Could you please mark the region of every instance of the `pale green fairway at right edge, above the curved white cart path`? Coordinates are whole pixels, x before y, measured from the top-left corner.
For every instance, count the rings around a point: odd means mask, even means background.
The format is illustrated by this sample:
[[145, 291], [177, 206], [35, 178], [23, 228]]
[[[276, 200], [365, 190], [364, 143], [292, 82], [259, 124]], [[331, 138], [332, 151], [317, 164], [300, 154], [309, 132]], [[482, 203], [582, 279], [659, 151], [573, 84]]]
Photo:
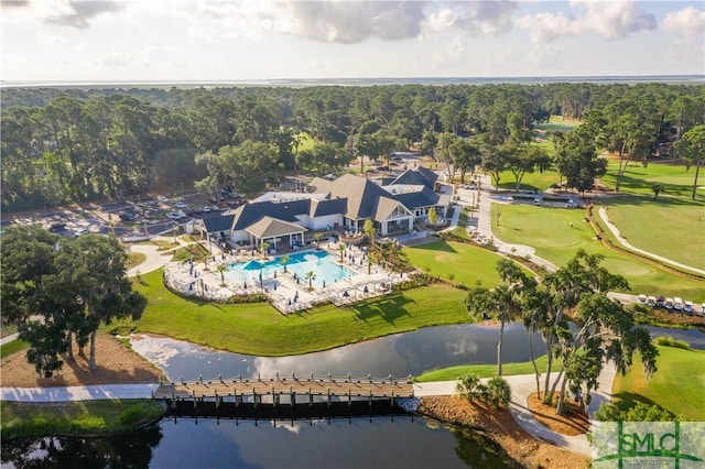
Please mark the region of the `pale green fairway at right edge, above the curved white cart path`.
[[634, 247], [705, 269], [705, 201], [632, 196], [604, 199], [601, 204], [608, 207], [610, 221]]

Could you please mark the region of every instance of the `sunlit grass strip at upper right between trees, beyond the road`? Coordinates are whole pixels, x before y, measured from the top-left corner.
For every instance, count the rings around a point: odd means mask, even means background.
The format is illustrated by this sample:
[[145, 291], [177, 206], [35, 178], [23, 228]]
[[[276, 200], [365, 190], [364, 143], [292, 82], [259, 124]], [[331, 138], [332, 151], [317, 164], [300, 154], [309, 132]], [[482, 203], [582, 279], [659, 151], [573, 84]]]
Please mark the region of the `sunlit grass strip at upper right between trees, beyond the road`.
[[[619, 161], [610, 159], [607, 164], [607, 174], [600, 177], [600, 182], [606, 187], [615, 189], [618, 171]], [[705, 184], [705, 173], [701, 171], [699, 177], [698, 186], [702, 186]], [[629, 163], [619, 193], [653, 196], [653, 185], [661, 184], [663, 190], [659, 198], [682, 197], [690, 200], [694, 181], [695, 168], [686, 170], [684, 164], [651, 162], [644, 167], [641, 163]], [[699, 189], [698, 195], [705, 196], [705, 190]]]

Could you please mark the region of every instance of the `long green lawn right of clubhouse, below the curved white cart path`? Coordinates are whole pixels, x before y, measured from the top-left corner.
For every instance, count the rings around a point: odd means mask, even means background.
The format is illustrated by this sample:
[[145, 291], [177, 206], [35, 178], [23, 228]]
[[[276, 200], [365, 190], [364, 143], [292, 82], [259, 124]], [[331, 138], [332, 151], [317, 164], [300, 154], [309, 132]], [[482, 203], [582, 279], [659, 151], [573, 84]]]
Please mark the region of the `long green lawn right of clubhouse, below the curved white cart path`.
[[[614, 274], [623, 275], [633, 293], [680, 296], [696, 303], [705, 301], [704, 281], [679, 276], [605, 248], [595, 239], [589, 223], [584, 221], [584, 210], [492, 204], [494, 220], [497, 210], [501, 211], [501, 225], [494, 225], [492, 232], [498, 239], [532, 246], [539, 257], [557, 266], [565, 265], [583, 248], [588, 253], [604, 254], [601, 265]], [[702, 254], [693, 251], [692, 255]]]

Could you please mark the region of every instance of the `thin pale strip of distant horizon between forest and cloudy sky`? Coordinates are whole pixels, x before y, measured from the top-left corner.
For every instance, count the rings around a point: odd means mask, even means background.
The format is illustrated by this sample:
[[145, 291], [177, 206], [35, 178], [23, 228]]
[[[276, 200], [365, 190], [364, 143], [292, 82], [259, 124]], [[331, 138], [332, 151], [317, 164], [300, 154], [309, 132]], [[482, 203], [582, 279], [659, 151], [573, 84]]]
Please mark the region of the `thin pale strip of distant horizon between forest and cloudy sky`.
[[433, 85], [433, 84], [532, 84], [532, 83], [690, 83], [702, 81], [705, 84], [705, 74], [660, 74], [660, 75], [545, 75], [545, 76], [456, 76], [456, 77], [434, 77], [434, 76], [409, 76], [409, 77], [338, 77], [338, 78], [257, 78], [257, 79], [172, 79], [172, 80], [138, 80], [138, 79], [115, 79], [115, 80], [2, 80], [1, 88], [53, 88], [53, 87], [94, 87], [94, 86], [129, 86], [129, 85], [153, 85], [153, 86], [286, 86], [286, 85], [352, 85], [364, 86], [390, 84], [390, 85]]

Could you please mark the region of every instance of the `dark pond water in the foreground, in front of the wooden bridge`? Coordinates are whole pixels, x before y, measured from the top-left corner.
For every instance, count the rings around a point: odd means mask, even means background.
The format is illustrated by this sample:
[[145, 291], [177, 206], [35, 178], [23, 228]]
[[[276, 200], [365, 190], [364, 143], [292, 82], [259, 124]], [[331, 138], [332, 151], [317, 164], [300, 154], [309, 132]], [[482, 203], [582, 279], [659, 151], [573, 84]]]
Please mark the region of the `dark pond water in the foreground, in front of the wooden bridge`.
[[[468, 432], [423, 418], [270, 423], [162, 421], [112, 438], [41, 438], [3, 445], [3, 466], [32, 468], [501, 468]], [[8, 463], [10, 462], [11, 463]]]

